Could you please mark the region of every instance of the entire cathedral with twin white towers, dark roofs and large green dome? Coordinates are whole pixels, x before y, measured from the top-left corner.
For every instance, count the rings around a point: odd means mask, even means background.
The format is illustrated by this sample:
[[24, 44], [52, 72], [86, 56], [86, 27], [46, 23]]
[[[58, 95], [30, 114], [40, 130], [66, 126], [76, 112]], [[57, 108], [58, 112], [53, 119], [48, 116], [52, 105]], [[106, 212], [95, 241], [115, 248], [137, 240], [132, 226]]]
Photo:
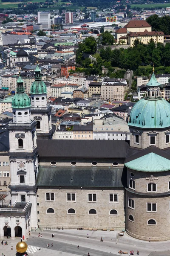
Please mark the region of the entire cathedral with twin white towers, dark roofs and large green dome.
[[170, 239], [170, 104], [153, 74], [133, 107], [123, 140], [51, 140], [51, 107], [37, 66], [31, 97], [17, 81], [8, 124], [11, 204], [0, 208], [0, 238], [39, 228], [125, 230]]

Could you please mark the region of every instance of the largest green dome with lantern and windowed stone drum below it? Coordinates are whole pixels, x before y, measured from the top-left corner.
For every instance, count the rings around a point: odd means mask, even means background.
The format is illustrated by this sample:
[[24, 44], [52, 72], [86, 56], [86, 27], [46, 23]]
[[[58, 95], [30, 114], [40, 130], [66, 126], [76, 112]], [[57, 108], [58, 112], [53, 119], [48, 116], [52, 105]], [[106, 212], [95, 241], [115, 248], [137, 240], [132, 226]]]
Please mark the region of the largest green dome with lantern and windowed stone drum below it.
[[160, 83], [153, 74], [147, 83], [144, 99], [139, 100], [132, 108], [128, 122], [130, 129], [130, 146], [147, 148], [155, 145], [158, 148], [169, 147], [170, 104], [161, 98]]

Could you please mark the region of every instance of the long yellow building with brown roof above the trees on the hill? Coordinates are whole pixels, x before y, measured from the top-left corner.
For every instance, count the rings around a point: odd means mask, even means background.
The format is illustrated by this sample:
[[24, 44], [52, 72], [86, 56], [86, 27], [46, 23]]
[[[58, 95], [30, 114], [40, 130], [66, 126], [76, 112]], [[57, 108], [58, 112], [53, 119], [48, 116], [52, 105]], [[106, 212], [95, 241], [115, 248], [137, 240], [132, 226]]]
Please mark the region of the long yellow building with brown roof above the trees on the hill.
[[155, 43], [164, 43], [164, 32], [162, 31], [147, 31], [144, 32], [129, 32], [127, 34], [127, 44], [133, 47], [135, 39], [139, 39], [143, 44], [148, 44], [150, 39], [153, 39]]

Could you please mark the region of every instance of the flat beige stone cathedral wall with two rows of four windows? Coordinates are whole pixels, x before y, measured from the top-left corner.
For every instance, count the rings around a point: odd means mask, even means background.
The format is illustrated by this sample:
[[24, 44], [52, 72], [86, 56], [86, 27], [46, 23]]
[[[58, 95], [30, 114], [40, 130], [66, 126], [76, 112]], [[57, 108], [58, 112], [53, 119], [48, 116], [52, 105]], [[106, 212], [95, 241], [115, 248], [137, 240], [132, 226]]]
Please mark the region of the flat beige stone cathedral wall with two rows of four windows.
[[[45, 192], [55, 194], [55, 201], [46, 201]], [[67, 193], [76, 194], [76, 202], [67, 201]], [[97, 202], [88, 202], [88, 193], [97, 194]], [[109, 193], [118, 194], [118, 203], [109, 203]], [[96, 228], [125, 229], [125, 194], [124, 189], [38, 189], [37, 207], [39, 227], [64, 228]], [[47, 213], [53, 208], [55, 213]], [[75, 214], [68, 214], [73, 208]], [[89, 215], [89, 210], [95, 209], [96, 215]], [[116, 209], [118, 215], [110, 215], [111, 209]]]

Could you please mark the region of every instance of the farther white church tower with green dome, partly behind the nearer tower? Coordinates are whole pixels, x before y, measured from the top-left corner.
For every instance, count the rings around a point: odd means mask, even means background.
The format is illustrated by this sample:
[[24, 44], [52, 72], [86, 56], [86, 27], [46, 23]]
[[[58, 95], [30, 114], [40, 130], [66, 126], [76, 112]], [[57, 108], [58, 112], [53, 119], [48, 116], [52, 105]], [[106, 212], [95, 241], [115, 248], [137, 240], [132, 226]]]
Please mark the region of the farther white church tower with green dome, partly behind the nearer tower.
[[35, 81], [31, 85], [31, 115], [37, 121], [38, 139], [51, 139], [51, 106], [47, 105], [47, 87], [41, 79], [41, 70], [36, 67]]

